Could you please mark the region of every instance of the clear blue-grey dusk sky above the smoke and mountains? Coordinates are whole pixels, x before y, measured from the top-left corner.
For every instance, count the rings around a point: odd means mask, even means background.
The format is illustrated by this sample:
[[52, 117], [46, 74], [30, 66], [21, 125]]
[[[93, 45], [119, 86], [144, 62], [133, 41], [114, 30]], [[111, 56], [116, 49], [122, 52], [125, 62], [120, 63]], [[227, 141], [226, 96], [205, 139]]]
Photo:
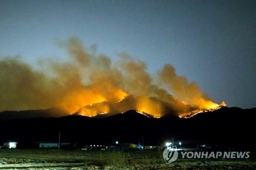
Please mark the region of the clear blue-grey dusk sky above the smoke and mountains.
[[[153, 75], [165, 64], [229, 107], [256, 107], [256, 1], [0, 1], [0, 60], [67, 60], [71, 37]], [[1, 80], [4, 81], [4, 80]], [[1, 89], [0, 89], [0, 95]]]

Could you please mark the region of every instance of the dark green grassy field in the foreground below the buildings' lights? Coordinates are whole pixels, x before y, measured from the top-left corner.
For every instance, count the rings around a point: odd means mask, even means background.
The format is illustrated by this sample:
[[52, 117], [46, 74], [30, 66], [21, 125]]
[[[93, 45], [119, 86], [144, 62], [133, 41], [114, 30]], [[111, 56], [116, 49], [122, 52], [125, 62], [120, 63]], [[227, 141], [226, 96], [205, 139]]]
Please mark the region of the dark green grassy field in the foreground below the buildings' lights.
[[0, 150], [0, 169], [256, 169], [250, 159], [180, 159], [166, 164], [159, 151]]

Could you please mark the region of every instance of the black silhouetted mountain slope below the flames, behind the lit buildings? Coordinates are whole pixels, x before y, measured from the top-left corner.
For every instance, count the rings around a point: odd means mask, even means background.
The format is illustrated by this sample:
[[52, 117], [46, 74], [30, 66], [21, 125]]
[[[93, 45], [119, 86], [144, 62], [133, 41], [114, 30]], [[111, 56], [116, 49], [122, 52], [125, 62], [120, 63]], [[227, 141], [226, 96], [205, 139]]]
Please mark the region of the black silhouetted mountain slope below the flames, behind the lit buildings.
[[247, 135], [247, 132], [255, 129], [255, 110], [222, 107], [190, 118], [172, 114], [156, 118], [136, 110], [101, 118], [76, 114], [15, 118], [2, 120], [0, 142], [57, 141], [61, 131], [61, 140], [71, 143], [111, 143], [115, 140], [142, 143], [144, 136], [146, 144], [163, 143], [174, 137], [184, 141], [247, 149], [249, 146], [254, 147], [253, 135]]

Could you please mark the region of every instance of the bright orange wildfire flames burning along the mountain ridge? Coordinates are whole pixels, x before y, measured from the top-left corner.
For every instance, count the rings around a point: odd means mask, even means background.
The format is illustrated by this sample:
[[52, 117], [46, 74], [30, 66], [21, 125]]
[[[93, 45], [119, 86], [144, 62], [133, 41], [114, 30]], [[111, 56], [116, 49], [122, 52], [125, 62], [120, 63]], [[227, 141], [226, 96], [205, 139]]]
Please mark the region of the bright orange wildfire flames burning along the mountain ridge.
[[[211, 105], [209, 105], [209, 103]], [[222, 106], [226, 106], [224, 102], [222, 102], [220, 105], [208, 102], [208, 105], [205, 105], [204, 107], [191, 107], [187, 104], [184, 104], [184, 102], [181, 102], [184, 108], [192, 108], [190, 111], [187, 112], [175, 112], [180, 117], [188, 118], [191, 116], [194, 116], [198, 113], [206, 112], [206, 111], [214, 111]], [[184, 109], [183, 110], [186, 110]], [[153, 100], [150, 98], [144, 98], [144, 97], [137, 97], [134, 96], [126, 96], [126, 98], [121, 99], [118, 102], [111, 103], [111, 102], [101, 102], [96, 103], [93, 105], [88, 105], [82, 107], [78, 113], [80, 115], [86, 115], [86, 116], [96, 116], [99, 114], [117, 114], [117, 113], [124, 113], [128, 110], [136, 110], [137, 113], [143, 114], [147, 117], [153, 116], [156, 118], [159, 118], [164, 115], [163, 110], [166, 109], [168, 111], [169, 109], [173, 109], [170, 106], [165, 106], [165, 104], [162, 101], [159, 100]]]

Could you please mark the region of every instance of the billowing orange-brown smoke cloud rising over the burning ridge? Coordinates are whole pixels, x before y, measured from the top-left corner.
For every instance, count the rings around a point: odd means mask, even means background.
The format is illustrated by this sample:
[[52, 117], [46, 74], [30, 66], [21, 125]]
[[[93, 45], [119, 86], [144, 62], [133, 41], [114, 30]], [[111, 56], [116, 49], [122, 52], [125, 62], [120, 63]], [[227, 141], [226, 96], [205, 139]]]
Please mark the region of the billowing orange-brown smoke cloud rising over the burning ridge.
[[146, 64], [128, 54], [113, 63], [77, 38], [64, 44], [68, 61], [40, 60], [32, 66], [20, 57], [0, 60], [0, 111], [59, 108], [93, 116], [135, 109], [161, 116], [219, 106], [196, 83], [177, 76], [172, 65], [159, 70], [154, 80]]

